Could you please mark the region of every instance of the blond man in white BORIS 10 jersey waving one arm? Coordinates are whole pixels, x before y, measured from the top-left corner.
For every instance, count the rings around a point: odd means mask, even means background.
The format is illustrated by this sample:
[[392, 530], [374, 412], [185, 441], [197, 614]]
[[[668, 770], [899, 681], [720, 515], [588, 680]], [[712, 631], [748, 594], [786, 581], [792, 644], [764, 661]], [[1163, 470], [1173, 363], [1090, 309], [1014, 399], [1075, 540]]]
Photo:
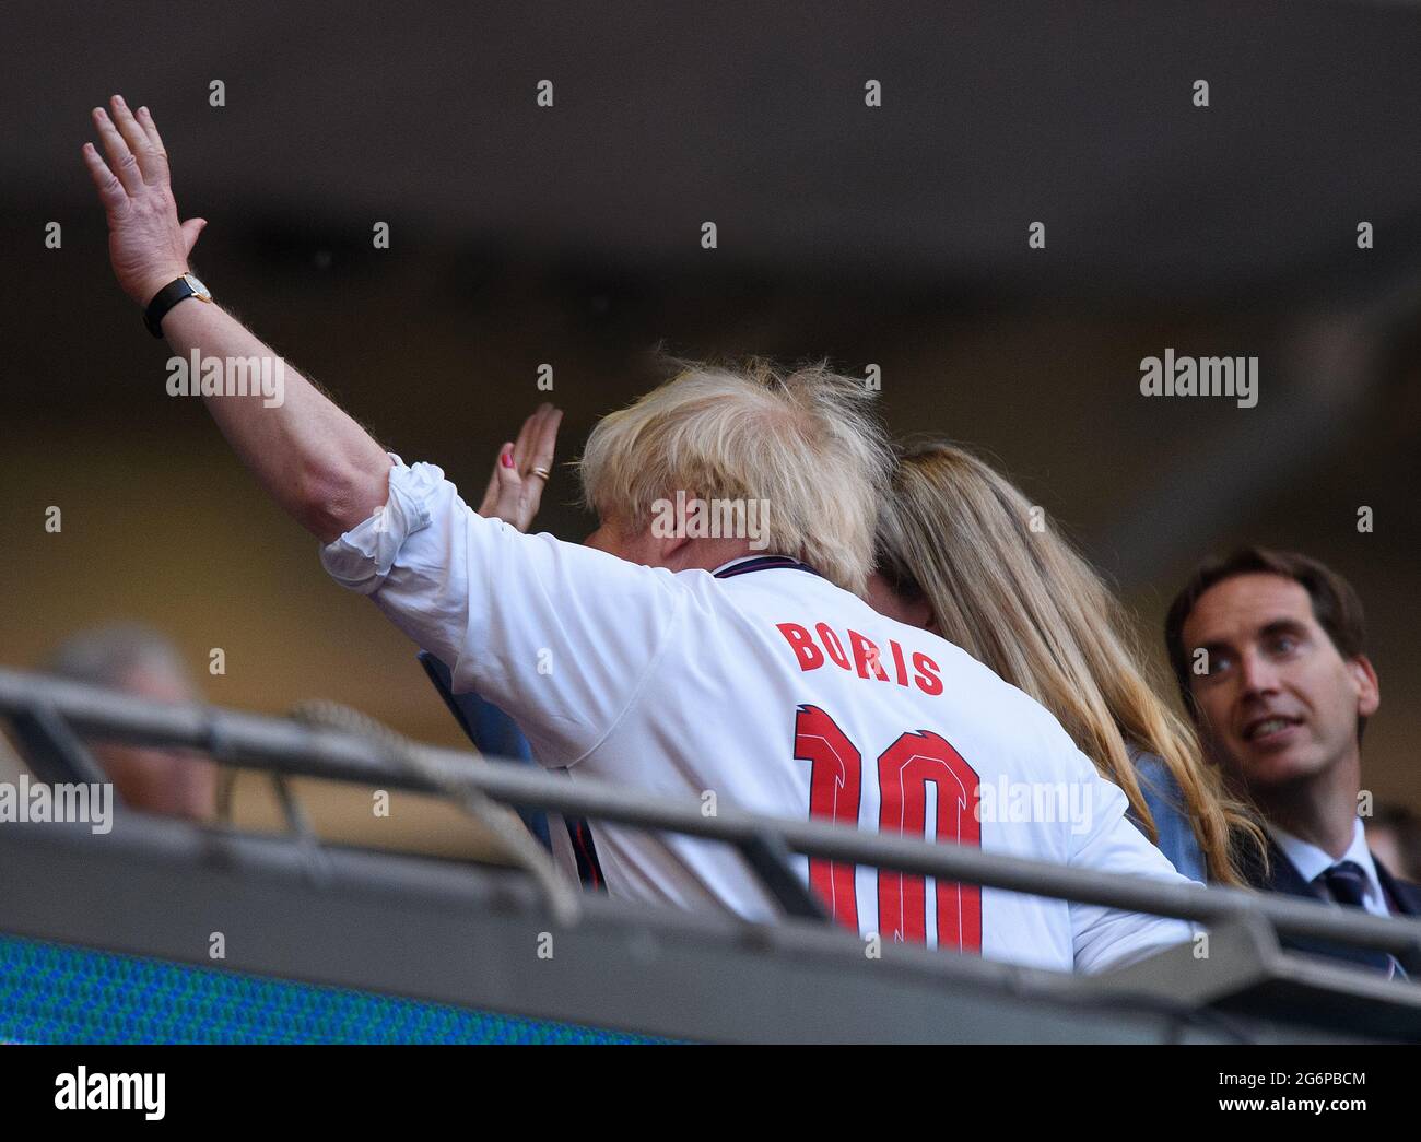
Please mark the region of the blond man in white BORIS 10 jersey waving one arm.
[[[114, 268], [149, 327], [185, 357], [270, 355], [186, 277], [203, 223], [178, 222], [152, 116], [115, 97], [112, 118], [95, 109], [94, 121], [109, 162], [92, 148], [85, 159]], [[280, 402], [207, 406], [321, 540], [327, 571], [449, 663], [456, 689], [513, 714], [541, 764], [1182, 881], [1050, 714], [857, 597], [890, 466], [861, 382], [821, 368], [684, 369], [593, 432], [583, 479], [601, 526], [578, 545], [472, 511], [438, 467], [406, 466], [293, 369], [284, 376]], [[725, 845], [594, 832], [617, 896], [774, 915]], [[799, 858], [799, 871], [860, 932], [1063, 970], [1189, 935], [1179, 922], [874, 868]]]

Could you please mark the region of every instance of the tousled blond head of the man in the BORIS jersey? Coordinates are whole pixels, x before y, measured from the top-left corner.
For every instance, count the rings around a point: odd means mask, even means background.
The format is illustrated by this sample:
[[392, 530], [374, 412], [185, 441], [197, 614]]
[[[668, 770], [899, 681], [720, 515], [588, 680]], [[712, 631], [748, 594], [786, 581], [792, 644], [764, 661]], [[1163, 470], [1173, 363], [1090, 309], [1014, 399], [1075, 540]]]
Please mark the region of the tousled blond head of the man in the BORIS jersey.
[[[578, 462], [584, 500], [601, 521], [588, 543], [672, 568], [750, 551], [791, 555], [861, 594], [891, 466], [864, 381], [823, 365], [674, 364], [671, 381], [593, 429]], [[682, 504], [739, 506], [733, 518], [757, 534], [665, 534], [654, 524], [678, 493]]]

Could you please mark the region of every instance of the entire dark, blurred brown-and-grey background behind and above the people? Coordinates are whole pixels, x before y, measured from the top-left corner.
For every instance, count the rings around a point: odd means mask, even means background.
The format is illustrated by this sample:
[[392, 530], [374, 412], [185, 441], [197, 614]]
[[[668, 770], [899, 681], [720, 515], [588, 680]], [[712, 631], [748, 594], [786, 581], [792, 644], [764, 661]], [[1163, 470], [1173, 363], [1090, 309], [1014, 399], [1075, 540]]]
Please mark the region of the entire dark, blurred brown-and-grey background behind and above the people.
[[[1206, 553], [1343, 571], [1383, 680], [1364, 784], [1421, 807], [1417, 6], [11, 3], [0, 44], [4, 665], [145, 619], [223, 705], [459, 744], [414, 648], [166, 396], [80, 161], [119, 91], [216, 297], [466, 499], [544, 362], [560, 459], [658, 344], [877, 364], [892, 429], [985, 449], [1151, 645]], [[1141, 396], [1167, 347], [1256, 355], [1258, 406]], [[574, 500], [560, 472], [540, 524], [581, 538]]]

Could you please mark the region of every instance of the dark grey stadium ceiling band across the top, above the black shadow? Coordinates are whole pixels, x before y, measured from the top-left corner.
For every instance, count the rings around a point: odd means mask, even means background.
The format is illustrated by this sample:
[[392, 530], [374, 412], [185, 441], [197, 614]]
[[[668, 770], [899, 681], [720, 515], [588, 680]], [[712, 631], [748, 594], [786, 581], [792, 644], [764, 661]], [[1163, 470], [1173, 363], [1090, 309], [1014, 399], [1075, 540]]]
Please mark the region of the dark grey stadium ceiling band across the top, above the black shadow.
[[87, 205], [84, 112], [122, 88], [195, 210], [595, 264], [696, 257], [709, 219], [746, 267], [1216, 295], [1333, 288], [1358, 220], [1367, 271], [1421, 244], [1410, 3], [87, 7], [3, 17], [9, 199]]

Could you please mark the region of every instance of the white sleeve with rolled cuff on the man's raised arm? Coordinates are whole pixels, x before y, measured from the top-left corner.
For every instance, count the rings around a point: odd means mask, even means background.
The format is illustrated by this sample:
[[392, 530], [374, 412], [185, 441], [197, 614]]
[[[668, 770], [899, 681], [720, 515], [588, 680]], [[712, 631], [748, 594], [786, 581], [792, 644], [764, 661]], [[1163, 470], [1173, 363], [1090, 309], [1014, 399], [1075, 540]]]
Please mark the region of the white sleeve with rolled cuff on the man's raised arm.
[[684, 592], [668, 571], [483, 518], [433, 464], [389, 470], [379, 511], [325, 570], [527, 733], [549, 768], [581, 760], [632, 705]]

